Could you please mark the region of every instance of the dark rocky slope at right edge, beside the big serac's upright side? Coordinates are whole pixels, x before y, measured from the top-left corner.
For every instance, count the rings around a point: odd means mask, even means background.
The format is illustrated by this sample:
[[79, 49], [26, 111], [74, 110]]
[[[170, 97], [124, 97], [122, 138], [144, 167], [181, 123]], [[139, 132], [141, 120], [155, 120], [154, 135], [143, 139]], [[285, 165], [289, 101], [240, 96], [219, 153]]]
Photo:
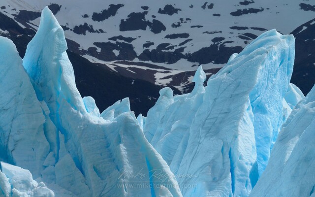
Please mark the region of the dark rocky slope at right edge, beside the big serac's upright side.
[[291, 33], [295, 37], [295, 59], [291, 83], [298, 86], [304, 95], [307, 95], [315, 84], [314, 32], [315, 19], [301, 25]]

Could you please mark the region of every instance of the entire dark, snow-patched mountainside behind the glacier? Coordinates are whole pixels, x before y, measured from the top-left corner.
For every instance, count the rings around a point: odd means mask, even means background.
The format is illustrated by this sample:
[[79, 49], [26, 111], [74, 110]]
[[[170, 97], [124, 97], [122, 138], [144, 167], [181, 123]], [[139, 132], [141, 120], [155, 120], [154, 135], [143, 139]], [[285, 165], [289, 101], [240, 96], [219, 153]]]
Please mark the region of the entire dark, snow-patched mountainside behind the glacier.
[[[65, 31], [79, 91], [93, 96], [102, 110], [115, 100], [129, 97], [136, 114], [146, 114], [158, 98], [159, 86], [170, 86], [175, 94], [190, 92], [197, 66], [202, 65], [209, 78], [233, 53], [241, 52], [259, 34], [271, 29], [284, 34], [293, 31], [297, 37], [292, 82], [304, 94], [315, 82], [313, 66], [308, 66], [315, 58], [305, 57], [305, 51], [314, 46], [315, 5], [308, 0], [78, 0], [75, 5], [63, 0], [3, 0], [1, 35], [14, 41], [22, 57], [46, 5]], [[301, 26], [307, 21], [309, 25]], [[301, 28], [309, 33], [301, 33]], [[84, 71], [81, 62], [88, 67]], [[124, 95], [107, 93], [103, 89], [109, 82], [106, 77], [115, 78], [113, 86], [125, 89]]]

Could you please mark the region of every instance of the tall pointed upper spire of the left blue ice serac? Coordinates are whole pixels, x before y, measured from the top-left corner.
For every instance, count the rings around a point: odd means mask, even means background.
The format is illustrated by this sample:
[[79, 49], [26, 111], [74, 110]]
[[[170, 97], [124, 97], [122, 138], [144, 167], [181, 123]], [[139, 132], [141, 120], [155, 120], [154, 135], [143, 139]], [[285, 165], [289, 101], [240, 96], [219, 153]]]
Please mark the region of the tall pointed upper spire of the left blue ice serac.
[[38, 31], [27, 46], [23, 66], [32, 79], [37, 98], [47, 103], [54, 123], [58, 122], [56, 114], [62, 102], [86, 113], [66, 49], [63, 29], [49, 8], [45, 7]]

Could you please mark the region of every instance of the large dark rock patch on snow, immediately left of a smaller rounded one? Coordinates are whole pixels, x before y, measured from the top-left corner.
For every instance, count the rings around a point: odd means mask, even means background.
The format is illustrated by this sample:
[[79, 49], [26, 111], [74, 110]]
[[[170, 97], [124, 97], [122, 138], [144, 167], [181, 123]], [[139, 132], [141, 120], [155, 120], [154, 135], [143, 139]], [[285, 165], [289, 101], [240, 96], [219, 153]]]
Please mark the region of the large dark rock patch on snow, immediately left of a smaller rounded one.
[[121, 20], [119, 25], [119, 30], [125, 31], [135, 31], [135, 30], [146, 30], [147, 26], [151, 23], [145, 20], [145, 15], [148, 12], [132, 12], [128, 15], [126, 20]]

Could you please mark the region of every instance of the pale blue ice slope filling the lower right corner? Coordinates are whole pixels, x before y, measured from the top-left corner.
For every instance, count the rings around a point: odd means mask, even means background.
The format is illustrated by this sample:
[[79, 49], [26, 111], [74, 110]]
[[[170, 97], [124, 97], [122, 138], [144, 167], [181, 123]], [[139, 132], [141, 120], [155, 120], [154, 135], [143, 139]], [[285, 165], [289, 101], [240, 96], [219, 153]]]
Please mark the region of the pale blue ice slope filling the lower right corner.
[[292, 110], [250, 197], [314, 197], [315, 88]]

